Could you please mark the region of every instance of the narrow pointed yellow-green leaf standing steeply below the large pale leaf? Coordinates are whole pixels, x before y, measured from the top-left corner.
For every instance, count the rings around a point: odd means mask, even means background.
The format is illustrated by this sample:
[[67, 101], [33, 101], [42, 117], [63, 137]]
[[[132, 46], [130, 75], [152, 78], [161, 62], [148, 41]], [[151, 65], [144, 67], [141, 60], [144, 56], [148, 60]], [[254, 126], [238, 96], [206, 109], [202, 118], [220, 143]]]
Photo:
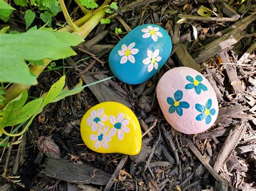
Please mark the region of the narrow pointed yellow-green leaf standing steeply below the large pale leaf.
[[62, 76], [57, 82], [55, 82], [51, 86], [49, 92], [44, 98], [43, 107], [45, 107], [45, 105], [47, 105], [48, 103], [51, 103], [62, 92], [64, 85], [65, 85], [65, 76]]

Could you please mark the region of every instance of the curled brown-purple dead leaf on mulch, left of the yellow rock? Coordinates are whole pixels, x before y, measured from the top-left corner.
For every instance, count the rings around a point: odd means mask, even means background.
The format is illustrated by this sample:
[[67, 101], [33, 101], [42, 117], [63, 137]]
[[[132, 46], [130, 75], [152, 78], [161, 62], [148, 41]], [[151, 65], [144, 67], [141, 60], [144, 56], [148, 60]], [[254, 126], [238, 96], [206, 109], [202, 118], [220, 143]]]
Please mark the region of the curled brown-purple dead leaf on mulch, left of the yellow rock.
[[60, 158], [59, 146], [52, 140], [51, 136], [38, 137], [37, 147], [47, 157]]

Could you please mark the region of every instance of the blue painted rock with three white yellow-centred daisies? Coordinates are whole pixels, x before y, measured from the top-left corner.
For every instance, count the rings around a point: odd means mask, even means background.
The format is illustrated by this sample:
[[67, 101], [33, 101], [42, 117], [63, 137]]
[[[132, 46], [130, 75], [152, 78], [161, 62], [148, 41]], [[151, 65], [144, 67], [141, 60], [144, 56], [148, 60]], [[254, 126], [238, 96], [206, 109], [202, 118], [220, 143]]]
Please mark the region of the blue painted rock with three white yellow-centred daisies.
[[155, 24], [140, 25], [112, 49], [109, 66], [120, 81], [139, 84], [158, 72], [171, 51], [171, 38], [162, 27]]

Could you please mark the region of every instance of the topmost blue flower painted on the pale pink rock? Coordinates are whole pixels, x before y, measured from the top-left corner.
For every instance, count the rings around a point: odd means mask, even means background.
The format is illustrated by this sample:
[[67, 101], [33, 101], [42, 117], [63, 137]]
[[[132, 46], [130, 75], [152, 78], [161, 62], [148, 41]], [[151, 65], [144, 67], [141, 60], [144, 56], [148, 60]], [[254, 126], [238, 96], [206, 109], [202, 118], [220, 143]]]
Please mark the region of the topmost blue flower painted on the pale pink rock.
[[185, 89], [193, 89], [196, 91], [197, 95], [201, 94], [201, 90], [207, 91], [207, 87], [203, 84], [200, 83], [203, 81], [203, 77], [200, 75], [196, 76], [196, 80], [193, 79], [191, 76], [186, 76], [186, 79], [190, 81], [191, 83], [186, 84]]

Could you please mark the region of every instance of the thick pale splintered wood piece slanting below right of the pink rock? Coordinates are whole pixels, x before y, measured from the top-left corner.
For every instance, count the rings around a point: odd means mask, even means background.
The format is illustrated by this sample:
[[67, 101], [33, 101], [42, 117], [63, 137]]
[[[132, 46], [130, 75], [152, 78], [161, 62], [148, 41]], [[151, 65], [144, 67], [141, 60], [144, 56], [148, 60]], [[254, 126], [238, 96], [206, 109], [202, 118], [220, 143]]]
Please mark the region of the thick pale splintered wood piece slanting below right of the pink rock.
[[241, 137], [244, 135], [247, 129], [247, 124], [245, 120], [242, 119], [241, 122], [235, 125], [235, 128], [230, 131], [230, 134], [227, 136], [223, 147], [218, 154], [218, 157], [215, 160], [213, 169], [217, 172], [220, 171], [221, 166], [223, 166], [226, 161], [230, 158], [230, 155], [234, 151], [235, 147], [239, 143]]

